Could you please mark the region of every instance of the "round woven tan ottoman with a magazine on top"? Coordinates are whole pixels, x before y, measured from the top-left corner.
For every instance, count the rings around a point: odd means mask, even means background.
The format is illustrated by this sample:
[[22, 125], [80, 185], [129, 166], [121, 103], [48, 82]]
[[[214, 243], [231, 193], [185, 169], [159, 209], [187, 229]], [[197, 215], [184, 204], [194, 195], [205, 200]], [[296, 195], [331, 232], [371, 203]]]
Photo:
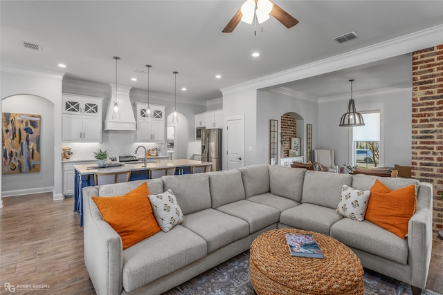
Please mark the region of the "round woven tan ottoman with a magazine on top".
[[[287, 233], [311, 234], [324, 258], [291, 256]], [[363, 267], [354, 252], [338, 240], [301, 229], [273, 229], [253, 241], [249, 276], [259, 295], [363, 294]]]

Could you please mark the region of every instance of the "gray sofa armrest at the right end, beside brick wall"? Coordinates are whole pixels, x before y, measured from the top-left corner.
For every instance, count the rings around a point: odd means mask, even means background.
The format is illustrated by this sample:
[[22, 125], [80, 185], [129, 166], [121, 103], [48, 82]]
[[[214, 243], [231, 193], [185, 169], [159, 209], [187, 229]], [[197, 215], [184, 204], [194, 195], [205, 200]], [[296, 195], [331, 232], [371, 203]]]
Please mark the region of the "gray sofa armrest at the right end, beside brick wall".
[[410, 285], [424, 289], [428, 278], [432, 251], [432, 185], [420, 182], [417, 192], [417, 211], [408, 223], [408, 264], [411, 267]]

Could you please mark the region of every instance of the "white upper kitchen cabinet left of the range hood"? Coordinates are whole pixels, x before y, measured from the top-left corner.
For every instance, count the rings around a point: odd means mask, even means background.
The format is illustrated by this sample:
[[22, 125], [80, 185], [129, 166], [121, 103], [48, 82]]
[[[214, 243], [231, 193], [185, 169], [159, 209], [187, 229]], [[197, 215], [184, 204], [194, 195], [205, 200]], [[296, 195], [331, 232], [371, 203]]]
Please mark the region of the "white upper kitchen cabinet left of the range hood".
[[63, 95], [62, 140], [102, 141], [102, 98]]

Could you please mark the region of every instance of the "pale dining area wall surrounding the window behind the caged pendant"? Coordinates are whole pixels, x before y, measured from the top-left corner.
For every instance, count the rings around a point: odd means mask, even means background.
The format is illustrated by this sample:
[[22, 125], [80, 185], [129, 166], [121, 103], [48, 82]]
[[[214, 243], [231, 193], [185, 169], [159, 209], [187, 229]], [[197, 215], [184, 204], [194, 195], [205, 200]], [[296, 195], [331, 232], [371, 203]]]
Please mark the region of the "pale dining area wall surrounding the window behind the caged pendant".
[[[410, 166], [412, 161], [412, 88], [410, 86], [367, 93], [354, 93], [356, 110], [380, 111], [381, 166], [394, 164]], [[334, 149], [335, 164], [351, 162], [351, 131], [338, 126], [347, 111], [350, 95], [322, 100], [318, 107], [318, 128], [314, 128], [314, 149]], [[383, 158], [382, 158], [383, 157]]]

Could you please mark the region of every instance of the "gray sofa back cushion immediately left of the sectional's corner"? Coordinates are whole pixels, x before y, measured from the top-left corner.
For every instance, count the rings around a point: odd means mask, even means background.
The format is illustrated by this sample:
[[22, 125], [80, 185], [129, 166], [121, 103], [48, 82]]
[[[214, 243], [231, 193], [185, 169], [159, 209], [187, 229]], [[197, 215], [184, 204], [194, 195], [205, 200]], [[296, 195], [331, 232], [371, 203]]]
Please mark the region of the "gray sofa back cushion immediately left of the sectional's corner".
[[238, 169], [242, 172], [246, 198], [269, 192], [268, 166], [268, 164], [257, 164]]

